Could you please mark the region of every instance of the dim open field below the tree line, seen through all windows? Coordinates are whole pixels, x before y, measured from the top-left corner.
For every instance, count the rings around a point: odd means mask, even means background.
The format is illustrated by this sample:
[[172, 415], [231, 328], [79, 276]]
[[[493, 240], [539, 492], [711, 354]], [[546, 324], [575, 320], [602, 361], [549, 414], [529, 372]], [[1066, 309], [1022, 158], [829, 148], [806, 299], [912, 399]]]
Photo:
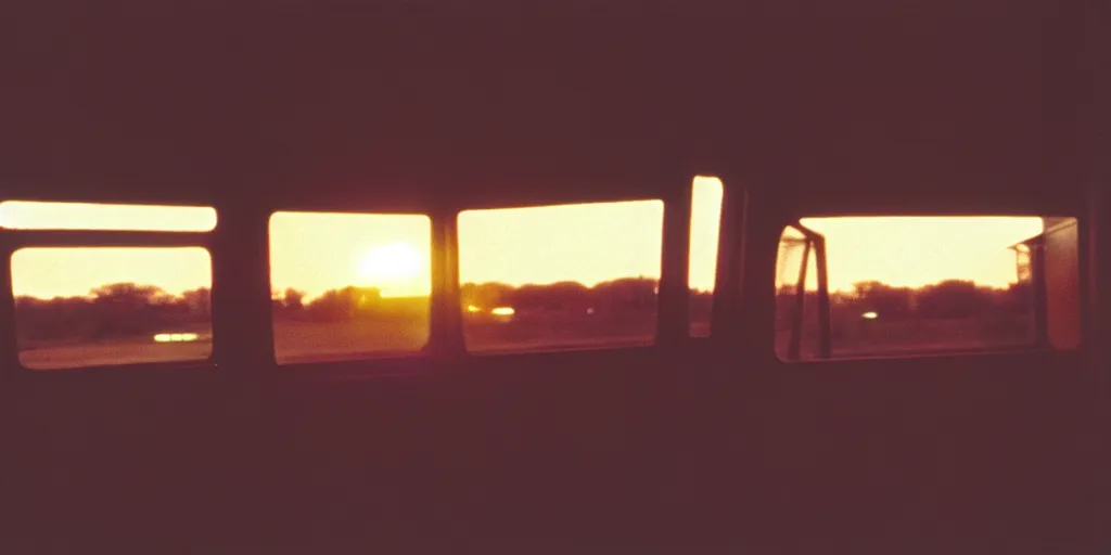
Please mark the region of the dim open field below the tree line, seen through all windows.
[[[705, 322], [695, 322], [692, 330], [704, 332], [707, 326]], [[638, 346], [651, 344], [654, 336], [654, 319], [642, 315], [509, 324], [471, 322], [464, 326], [468, 351], [491, 354]], [[281, 364], [403, 356], [420, 352], [428, 337], [428, 323], [421, 320], [278, 322], [274, 355]], [[817, 354], [817, 326], [803, 329], [803, 359]], [[868, 322], [854, 327], [834, 326], [832, 339], [834, 356], [853, 356], [1012, 347], [1029, 344], [1032, 335], [1025, 321]], [[781, 356], [787, 353], [788, 341], [789, 333], [777, 334]], [[211, 347], [209, 341], [156, 343], [152, 339], [132, 337], [38, 345], [21, 351], [20, 361], [37, 370], [203, 361]]]

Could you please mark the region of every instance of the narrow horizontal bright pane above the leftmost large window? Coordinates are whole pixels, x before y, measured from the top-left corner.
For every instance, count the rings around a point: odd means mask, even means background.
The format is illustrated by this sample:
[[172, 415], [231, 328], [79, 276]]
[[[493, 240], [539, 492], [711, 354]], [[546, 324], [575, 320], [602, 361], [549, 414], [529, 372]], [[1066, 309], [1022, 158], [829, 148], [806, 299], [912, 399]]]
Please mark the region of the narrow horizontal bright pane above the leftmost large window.
[[0, 228], [14, 230], [211, 231], [216, 210], [82, 202], [0, 202]]

